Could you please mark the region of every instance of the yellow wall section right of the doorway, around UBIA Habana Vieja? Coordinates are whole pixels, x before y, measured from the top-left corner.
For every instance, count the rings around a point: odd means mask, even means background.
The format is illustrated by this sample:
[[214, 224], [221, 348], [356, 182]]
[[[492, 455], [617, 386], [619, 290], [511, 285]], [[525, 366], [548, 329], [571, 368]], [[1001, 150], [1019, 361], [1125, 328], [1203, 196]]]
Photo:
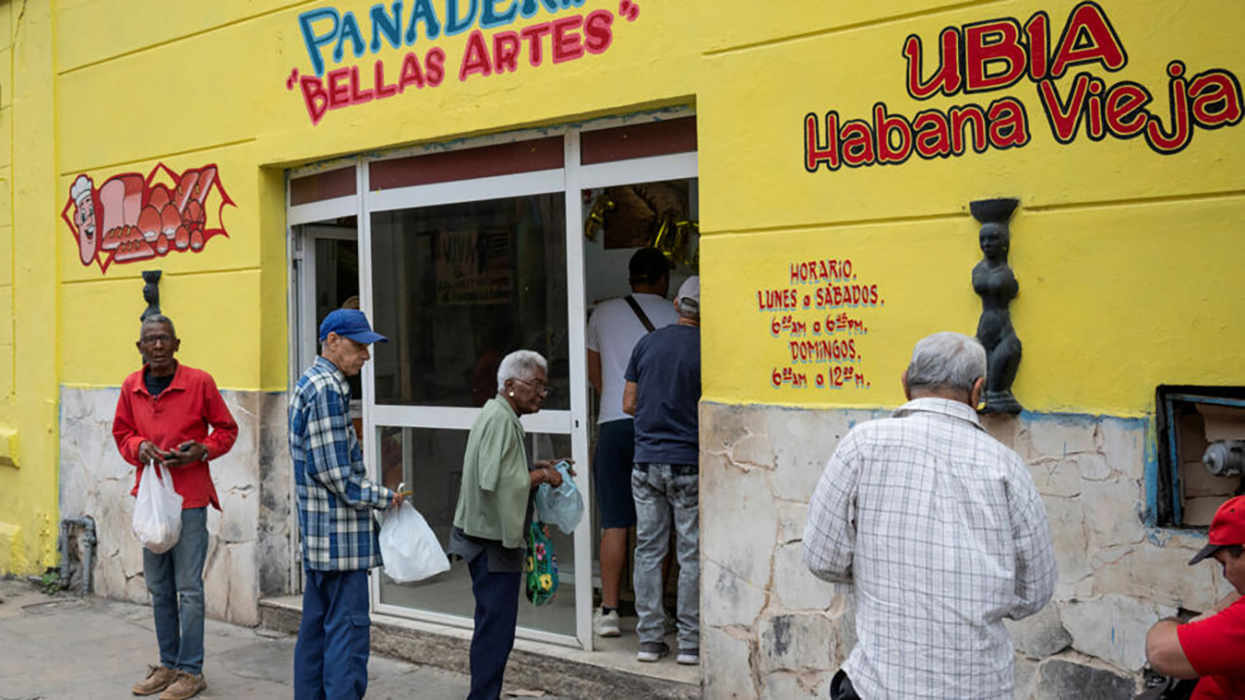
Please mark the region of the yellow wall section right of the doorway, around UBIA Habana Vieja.
[[[1020, 281], [1012, 320], [1023, 344], [1015, 392], [1028, 410], [1140, 415], [1159, 384], [1245, 384], [1245, 126], [1196, 130], [1189, 147], [1160, 156], [1140, 138], [1082, 135], [1062, 146], [1051, 135], [1028, 80], [979, 95], [916, 101], [905, 91], [901, 50], [921, 36], [929, 57], [939, 30], [996, 17], [1025, 22], [1045, 10], [1058, 36], [1074, 2], [985, 2], [965, 7], [905, 2], [895, 16], [793, 11], [772, 30], [740, 31], [722, 17], [698, 90], [702, 149], [702, 248], [706, 298], [705, 395], [726, 402], [895, 406], [913, 344], [937, 330], [972, 334], [980, 301], [970, 284], [981, 259], [969, 202], [1017, 197], [1011, 264]], [[1128, 65], [1112, 73], [1073, 67], [1067, 93], [1086, 70], [1114, 83], [1144, 85], [1168, 116], [1168, 61], [1190, 75], [1226, 69], [1245, 75], [1245, 50], [1229, 27], [1245, 5], [1102, 2]], [[768, 12], [748, 4], [747, 12]], [[838, 9], [839, 5], [835, 5]], [[813, 16], [818, 25], [793, 24]], [[896, 19], [898, 17], [898, 19]], [[747, 22], [745, 22], [747, 26]], [[931, 65], [931, 61], [935, 64]], [[1027, 146], [900, 166], [804, 169], [802, 120], [838, 111], [872, 122], [881, 101], [909, 120], [930, 107], [989, 105], [1002, 96], [1026, 106]], [[772, 389], [774, 366], [791, 366], [771, 336], [756, 290], [788, 286], [788, 264], [850, 258], [885, 289], [885, 308], [859, 340], [872, 389]], [[852, 310], [849, 310], [852, 311]], [[801, 313], [803, 314], [803, 311]], [[815, 314], [809, 315], [809, 318]], [[786, 354], [784, 354], [786, 352]]]

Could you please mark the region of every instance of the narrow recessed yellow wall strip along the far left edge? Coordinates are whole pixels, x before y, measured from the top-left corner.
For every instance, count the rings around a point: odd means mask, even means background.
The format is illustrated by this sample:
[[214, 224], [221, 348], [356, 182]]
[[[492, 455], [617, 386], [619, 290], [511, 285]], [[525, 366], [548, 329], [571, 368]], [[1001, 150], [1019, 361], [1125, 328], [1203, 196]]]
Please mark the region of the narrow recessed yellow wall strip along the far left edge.
[[56, 562], [52, 25], [47, 2], [0, 2], [0, 572], [14, 573]]

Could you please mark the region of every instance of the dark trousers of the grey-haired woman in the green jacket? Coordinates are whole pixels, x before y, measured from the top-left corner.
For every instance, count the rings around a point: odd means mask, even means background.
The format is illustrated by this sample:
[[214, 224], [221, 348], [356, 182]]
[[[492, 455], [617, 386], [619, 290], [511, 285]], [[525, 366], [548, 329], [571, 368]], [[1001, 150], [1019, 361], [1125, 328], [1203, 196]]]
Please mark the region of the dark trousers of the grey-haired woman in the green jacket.
[[471, 695], [467, 700], [498, 700], [505, 661], [514, 649], [519, 620], [519, 572], [488, 570], [488, 553], [468, 564], [476, 597], [476, 631], [471, 636]]

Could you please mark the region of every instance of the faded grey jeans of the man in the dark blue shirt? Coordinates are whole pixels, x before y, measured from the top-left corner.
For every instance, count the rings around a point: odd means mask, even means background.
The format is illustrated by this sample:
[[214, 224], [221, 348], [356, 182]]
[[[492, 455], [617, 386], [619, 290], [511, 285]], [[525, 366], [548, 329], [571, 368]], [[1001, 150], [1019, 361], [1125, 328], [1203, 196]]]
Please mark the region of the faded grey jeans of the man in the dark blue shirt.
[[661, 560], [670, 527], [679, 557], [679, 649], [700, 649], [700, 475], [696, 465], [636, 463], [631, 471], [635, 497], [635, 631], [640, 643], [666, 635], [661, 604]]

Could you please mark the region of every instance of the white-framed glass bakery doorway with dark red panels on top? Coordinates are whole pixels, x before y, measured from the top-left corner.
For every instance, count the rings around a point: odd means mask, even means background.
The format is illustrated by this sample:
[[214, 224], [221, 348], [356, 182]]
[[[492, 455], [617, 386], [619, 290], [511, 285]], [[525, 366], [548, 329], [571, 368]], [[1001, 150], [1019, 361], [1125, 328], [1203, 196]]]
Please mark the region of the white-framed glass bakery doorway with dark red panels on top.
[[[520, 604], [519, 638], [593, 648], [598, 532], [589, 465], [596, 399], [588, 386], [584, 335], [588, 308], [596, 295], [611, 293], [598, 275], [613, 277], [611, 265], [626, 254], [618, 245], [604, 257], [591, 249], [606, 248], [604, 238], [585, 237], [593, 193], [676, 181], [695, 199], [695, 120], [686, 112], [421, 147], [290, 173], [298, 318], [291, 359], [299, 365], [291, 381], [314, 360], [308, 348], [314, 348], [316, 320], [347, 293], [357, 294], [374, 328], [390, 338], [374, 346], [356, 395], [365, 461], [374, 478], [413, 490], [415, 507], [443, 547], [467, 436], [479, 406], [496, 395], [497, 365], [517, 349], [535, 350], [549, 362], [553, 394], [544, 410], [523, 417], [528, 455], [574, 458], [586, 512], [570, 536], [550, 528], [558, 597], [539, 609]], [[345, 280], [352, 274], [354, 285]], [[381, 569], [372, 577], [376, 613], [472, 627], [466, 565], [408, 584]]]

